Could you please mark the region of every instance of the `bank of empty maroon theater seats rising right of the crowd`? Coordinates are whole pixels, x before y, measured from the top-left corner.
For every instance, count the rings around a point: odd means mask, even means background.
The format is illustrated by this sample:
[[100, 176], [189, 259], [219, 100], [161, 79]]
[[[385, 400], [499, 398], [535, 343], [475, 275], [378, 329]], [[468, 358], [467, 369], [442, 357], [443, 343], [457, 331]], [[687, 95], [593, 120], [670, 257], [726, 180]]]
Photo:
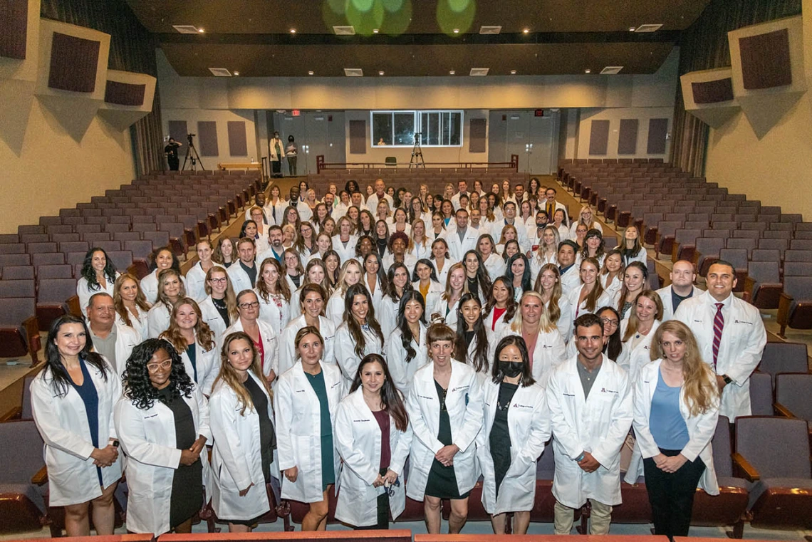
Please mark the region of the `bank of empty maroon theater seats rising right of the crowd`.
[[559, 182], [618, 229], [637, 226], [658, 257], [689, 260], [700, 276], [728, 260], [736, 291], [779, 309], [787, 327], [812, 329], [812, 222], [729, 194], [667, 164], [562, 163]]

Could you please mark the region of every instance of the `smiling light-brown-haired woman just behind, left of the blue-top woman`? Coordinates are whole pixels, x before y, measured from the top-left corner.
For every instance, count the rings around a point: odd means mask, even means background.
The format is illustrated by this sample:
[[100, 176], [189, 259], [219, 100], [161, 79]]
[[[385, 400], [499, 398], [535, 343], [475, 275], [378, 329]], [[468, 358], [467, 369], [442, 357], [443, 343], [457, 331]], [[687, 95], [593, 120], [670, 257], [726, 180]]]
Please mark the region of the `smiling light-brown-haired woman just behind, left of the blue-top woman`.
[[651, 361], [651, 339], [663, 319], [663, 302], [652, 290], [643, 290], [629, 311], [628, 318], [620, 320], [620, 340], [623, 350], [615, 362], [628, 372], [628, 380], [637, 382], [640, 369]]

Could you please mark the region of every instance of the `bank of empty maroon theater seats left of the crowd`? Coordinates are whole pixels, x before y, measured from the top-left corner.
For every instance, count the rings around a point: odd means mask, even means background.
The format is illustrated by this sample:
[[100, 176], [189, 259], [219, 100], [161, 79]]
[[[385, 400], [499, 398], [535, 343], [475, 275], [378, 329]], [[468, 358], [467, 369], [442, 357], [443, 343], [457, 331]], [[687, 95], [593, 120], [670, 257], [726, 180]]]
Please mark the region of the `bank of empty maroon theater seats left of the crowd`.
[[154, 249], [168, 245], [184, 258], [260, 189], [253, 172], [149, 174], [0, 235], [0, 357], [30, 355], [36, 363], [39, 331], [78, 312], [68, 300], [89, 248], [101, 247], [120, 272], [143, 277]]

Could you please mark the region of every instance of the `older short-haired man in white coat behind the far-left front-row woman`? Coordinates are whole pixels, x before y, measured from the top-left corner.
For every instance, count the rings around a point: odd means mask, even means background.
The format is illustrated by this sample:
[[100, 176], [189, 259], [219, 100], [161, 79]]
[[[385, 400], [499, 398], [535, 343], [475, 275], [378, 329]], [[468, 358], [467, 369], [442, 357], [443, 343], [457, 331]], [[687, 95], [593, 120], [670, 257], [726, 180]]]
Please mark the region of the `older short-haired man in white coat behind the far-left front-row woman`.
[[115, 307], [110, 294], [93, 294], [88, 303], [88, 330], [93, 351], [103, 355], [121, 377], [132, 349], [141, 342], [140, 333], [128, 325], [116, 324]]

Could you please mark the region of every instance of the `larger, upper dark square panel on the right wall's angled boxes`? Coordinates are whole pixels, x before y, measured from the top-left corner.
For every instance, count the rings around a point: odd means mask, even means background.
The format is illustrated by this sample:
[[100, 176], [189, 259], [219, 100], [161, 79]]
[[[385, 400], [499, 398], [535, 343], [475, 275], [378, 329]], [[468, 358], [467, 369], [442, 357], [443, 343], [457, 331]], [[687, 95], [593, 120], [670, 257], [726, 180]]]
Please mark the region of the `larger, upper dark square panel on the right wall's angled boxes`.
[[783, 87], [793, 82], [789, 32], [780, 28], [739, 38], [741, 79], [745, 89]]

